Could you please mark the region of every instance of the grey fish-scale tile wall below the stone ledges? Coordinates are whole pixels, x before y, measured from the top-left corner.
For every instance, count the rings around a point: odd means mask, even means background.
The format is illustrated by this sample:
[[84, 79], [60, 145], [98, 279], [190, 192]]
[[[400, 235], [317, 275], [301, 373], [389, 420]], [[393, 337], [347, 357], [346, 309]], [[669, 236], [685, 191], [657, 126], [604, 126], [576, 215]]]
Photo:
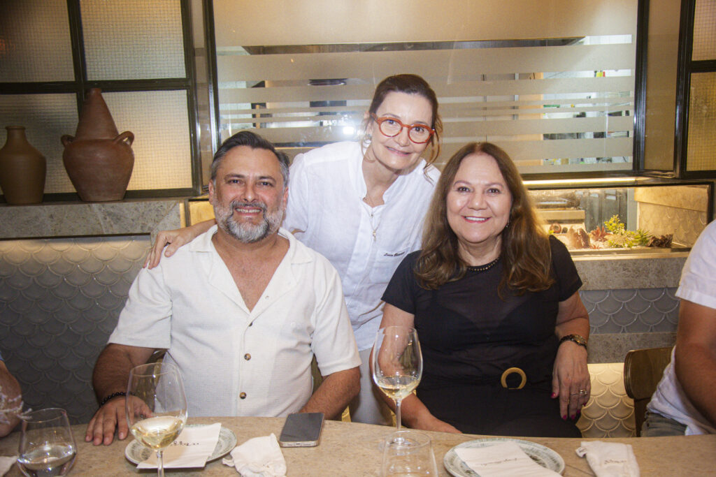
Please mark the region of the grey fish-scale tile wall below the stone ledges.
[[[0, 350], [29, 406], [59, 406], [73, 423], [89, 421], [97, 408], [92, 368], [149, 244], [145, 235], [0, 241]], [[581, 292], [593, 338], [673, 333], [674, 291]]]

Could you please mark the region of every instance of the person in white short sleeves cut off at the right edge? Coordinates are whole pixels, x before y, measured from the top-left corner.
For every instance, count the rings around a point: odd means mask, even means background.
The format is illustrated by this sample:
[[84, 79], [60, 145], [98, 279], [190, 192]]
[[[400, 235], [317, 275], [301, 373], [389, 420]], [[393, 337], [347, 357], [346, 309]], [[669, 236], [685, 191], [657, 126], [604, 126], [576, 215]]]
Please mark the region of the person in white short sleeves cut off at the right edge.
[[642, 436], [716, 433], [716, 221], [684, 265], [672, 360], [647, 405]]

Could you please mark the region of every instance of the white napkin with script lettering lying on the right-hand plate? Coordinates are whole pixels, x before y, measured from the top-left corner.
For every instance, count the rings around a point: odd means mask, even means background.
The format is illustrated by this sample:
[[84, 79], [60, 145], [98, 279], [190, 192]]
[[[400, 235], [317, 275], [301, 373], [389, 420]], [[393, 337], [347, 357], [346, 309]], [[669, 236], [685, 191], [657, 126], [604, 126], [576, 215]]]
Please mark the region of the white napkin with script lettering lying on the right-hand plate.
[[513, 441], [505, 441], [485, 447], [459, 447], [455, 449], [458, 457], [468, 467], [480, 474], [480, 477], [558, 477], [559, 474], [544, 468], [532, 460]]

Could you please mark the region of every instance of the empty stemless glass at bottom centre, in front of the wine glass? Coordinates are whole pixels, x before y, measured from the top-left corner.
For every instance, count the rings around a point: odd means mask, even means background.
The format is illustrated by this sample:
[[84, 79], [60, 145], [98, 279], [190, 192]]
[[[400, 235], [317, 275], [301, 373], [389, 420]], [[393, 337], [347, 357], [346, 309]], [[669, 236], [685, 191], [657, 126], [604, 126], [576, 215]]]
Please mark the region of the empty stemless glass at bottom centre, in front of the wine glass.
[[430, 436], [415, 431], [398, 431], [385, 440], [382, 477], [437, 476]]

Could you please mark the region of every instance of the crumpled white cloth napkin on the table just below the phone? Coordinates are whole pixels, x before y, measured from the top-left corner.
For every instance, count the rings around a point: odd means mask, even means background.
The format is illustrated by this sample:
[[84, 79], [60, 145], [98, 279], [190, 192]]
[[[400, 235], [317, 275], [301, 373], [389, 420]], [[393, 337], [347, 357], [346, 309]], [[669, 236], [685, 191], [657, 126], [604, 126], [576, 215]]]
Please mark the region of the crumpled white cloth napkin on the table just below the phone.
[[281, 453], [276, 435], [249, 439], [231, 451], [231, 458], [224, 458], [225, 466], [236, 467], [241, 477], [283, 477], [286, 461]]

